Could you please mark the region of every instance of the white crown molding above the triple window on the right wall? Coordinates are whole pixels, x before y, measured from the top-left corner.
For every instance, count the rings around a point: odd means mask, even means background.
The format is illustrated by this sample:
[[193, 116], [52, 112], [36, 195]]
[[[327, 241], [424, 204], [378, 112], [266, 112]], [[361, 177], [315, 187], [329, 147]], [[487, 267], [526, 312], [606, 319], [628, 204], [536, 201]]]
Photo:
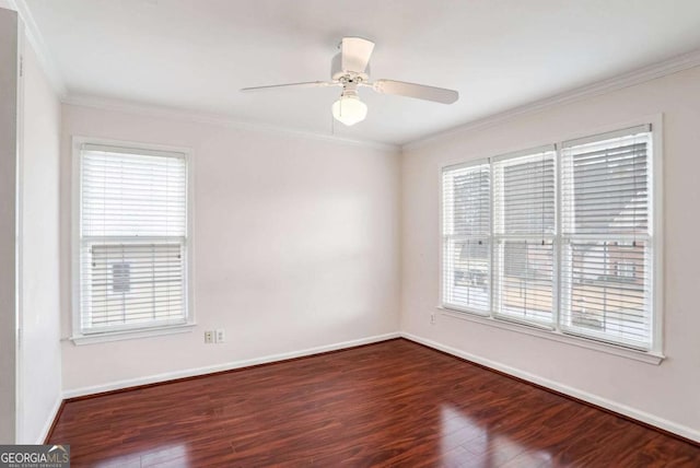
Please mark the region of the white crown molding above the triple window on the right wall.
[[625, 87], [633, 86], [635, 84], [645, 83], [648, 81], [663, 78], [673, 73], [678, 73], [684, 70], [688, 70], [700, 66], [700, 49], [692, 50], [687, 54], [682, 54], [669, 59], [652, 63], [646, 67], [642, 67], [627, 73], [618, 74], [612, 78], [597, 81], [592, 84], [580, 86], [563, 93], [555, 94], [549, 97], [545, 97], [538, 101], [534, 101], [522, 106], [513, 107], [502, 113], [492, 114], [490, 116], [468, 121], [466, 124], [453, 127], [451, 129], [440, 131], [420, 138], [418, 140], [409, 141], [401, 145], [401, 150], [413, 150], [423, 147], [429, 143], [436, 143], [441, 140], [456, 137], [460, 133], [467, 133], [469, 131], [479, 130], [504, 121], [511, 120], [515, 117], [521, 117], [527, 114], [534, 114], [548, 107], [569, 104], [576, 101], [581, 101], [588, 97], [599, 96], [612, 91], [621, 90]]

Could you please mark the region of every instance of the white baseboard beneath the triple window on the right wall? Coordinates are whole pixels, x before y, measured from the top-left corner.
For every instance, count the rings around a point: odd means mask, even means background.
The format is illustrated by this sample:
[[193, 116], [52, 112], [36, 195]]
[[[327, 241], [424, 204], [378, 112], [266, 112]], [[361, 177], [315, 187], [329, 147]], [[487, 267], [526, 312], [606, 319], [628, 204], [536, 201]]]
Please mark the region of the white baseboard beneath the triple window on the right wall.
[[677, 424], [673, 421], [665, 420], [663, 418], [655, 417], [653, 414], [646, 413], [644, 411], [640, 411], [638, 409], [628, 407], [622, 403], [618, 403], [616, 401], [608, 400], [606, 398], [599, 397], [597, 395], [590, 394], [587, 391], [583, 391], [573, 387], [569, 387], [567, 385], [559, 384], [557, 382], [550, 381], [548, 378], [540, 377], [538, 375], [534, 375], [524, 371], [521, 371], [515, 367], [511, 367], [509, 365], [504, 365], [498, 363], [495, 361], [491, 361], [486, 358], [478, 356], [476, 354], [471, 354], [456, 348], [447, 347], [441, 344], [439, 342], [417, 337], [416, 335], [411, 335], [405, 331], [399, 334], [402, 338], [407, 340], [416, 341], [417, 343], [424, 344], [429, 348], [436, 349], [439, 351], [444, 351], [448, 354], [455, 355], [457, 358], [465, 359], [467, 361], [475, 362], [477, 364], [481, 364], [486, 367], [493, 368], [495, 371], [503, 372], [505, 374], [512, 375], [514, 377], [522, 378], [527, 382], [532, 382], [537, 385], [541, 385], [542, 387], [551, 388], [552, 390], [559, 391], [561, 394], [568, 395], [573, 398], [578, 398], [583, 401], [587, 401], [595, 406], [608, 409], [610, 411], [615, 411], [620, 414], [625, 414], [634, 420], [644, 422], [646, 424], [651, 424], [653, 426], [663, 429], [664, 431], [672, 432], [674, 434], [680, 435], [681, 437], [689, 438], [695, 442], [700, 442], [700, 431], [688, 428], [686, 425]]

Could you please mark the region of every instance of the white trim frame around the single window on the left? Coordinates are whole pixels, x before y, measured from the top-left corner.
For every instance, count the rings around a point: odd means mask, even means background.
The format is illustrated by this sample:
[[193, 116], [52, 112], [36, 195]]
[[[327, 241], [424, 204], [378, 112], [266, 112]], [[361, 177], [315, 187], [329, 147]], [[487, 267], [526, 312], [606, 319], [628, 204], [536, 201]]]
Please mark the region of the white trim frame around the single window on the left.
[[[100, 147], [115, 147], [120, 149], [135, 149], [143, 151], [144, 154], [163, 154], [179, 153], [186, 163], [186, 203], [185, 212], [186, 223], [186, 257], [185, 257], [185, 306], [186, 320], [180, 324], [161, 324], [155, 326], [127, 326], [124, 329], [106, 330], [101, 332], [83, 334], [81, 330], [81, 284], [80, 284], [80, 217], [81, 217], [81, 150], [83, 144], [95, 144]], [[191, 331], [196, 326], [195, 321], [195, 297], [192, 292], [194, 284], [194, 238], [192, 238], [192, 221], [194, 221], [194, 157], [192, 150], [184, 147], [171, 147], [163, 144], [143, 143], [125, 140], [108, 140], [101, 138], [91, 138], [82, 136], [73, 136], [71, 138], [71, 332], [70, 340], [74, 344], [90, 344], [106, 341], [137, 339], [145, 337], [155, 337], [163, 335], [173, 335]]]

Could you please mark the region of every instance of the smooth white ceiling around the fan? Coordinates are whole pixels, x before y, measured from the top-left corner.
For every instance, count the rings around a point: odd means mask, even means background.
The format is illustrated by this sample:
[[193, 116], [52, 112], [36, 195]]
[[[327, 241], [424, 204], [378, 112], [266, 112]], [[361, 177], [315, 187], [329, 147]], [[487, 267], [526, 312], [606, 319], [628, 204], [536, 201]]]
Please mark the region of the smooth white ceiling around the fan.
[[[401, 144], [700, 48], [699, 0], [26, 0], [69, 96]], [[451, 87], [446, 106], [361, 91], [331, 126], [342, 36], [376, 43], [372, 77]]]

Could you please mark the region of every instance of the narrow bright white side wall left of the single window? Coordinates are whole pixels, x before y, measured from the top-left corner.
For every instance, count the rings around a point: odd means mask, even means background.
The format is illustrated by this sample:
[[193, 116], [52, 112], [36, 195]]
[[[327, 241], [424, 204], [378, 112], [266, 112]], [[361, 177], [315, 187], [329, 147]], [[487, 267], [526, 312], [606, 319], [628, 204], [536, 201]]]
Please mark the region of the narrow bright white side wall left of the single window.
[[43, 443], [61, 400], [59, 299], [60, 103], [28, 45], [23, 52], [19, 376], [20, 443]]

